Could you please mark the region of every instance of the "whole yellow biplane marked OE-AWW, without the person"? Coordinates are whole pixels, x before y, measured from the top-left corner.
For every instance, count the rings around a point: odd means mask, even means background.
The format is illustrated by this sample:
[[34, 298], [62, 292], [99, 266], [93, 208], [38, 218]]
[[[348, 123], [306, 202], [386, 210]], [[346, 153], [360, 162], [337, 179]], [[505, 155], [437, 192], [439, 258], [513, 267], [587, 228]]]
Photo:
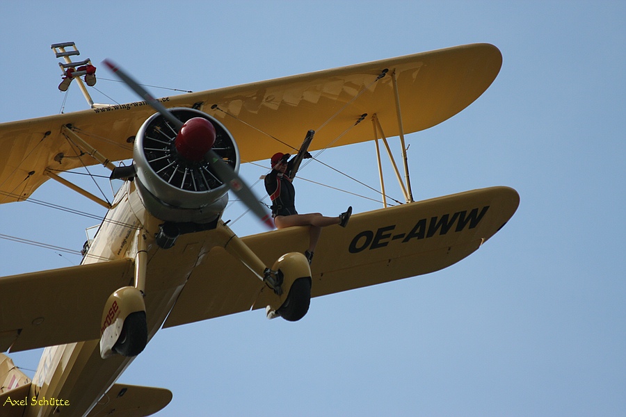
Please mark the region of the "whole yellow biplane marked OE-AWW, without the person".
[[[70, 44], [52, 47], [85, 94]], [[303, 255], [307, 227], [239, 238], [221, 219], [232, 190], [271, 224], [239, 179], [239, 164], [267, 161], [286, 147], [301, 152], [310, 126], [320, 126], [310, 151], [368, 140], [378, 149], [392, 136], [405, 149], [405, 134], [447, 120], [494, 81], [501, 54], [490, 44], [162, 99], [107, 65], [141, 101], [90, 101], [86, 111], [0, 124], [1, 203], [29, 199], [54, 179], [108, 208], [81, 265], [0, 278], [0, 352], [45, 347], [32, 380], [0, 354], [2, 416], [157, 412], [170, 391], [116, 380], [161, 327], [253, 309], [299, 320], [311, 297], [460, 261], [519, 204], [507, 187], [413, 202], [407, 175], [406, 204], [326, 227], [311, 265]], [[204, 128], [189, 133], [198, 120], [214, 129], [210, 140]], [[83, 164], [102, 164], [123, 180], [111, 204], [59, 176]]]

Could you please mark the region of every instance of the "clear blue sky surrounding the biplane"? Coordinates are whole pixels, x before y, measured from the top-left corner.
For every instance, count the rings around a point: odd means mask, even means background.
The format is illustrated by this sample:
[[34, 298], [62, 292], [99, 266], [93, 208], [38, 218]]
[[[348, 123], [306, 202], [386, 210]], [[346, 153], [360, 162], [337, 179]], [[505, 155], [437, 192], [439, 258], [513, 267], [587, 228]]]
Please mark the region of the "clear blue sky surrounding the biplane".
[[[163, 330], [120, 382], [170, 389], [159, 417], [623, 416], [625, 21], [625, 1], [3, 1], [0, 121], [86, 108], [76, 85], [67, 97], [57, 90], [57, 42], [77, 42], [95, 65], [113, 58], [145, 84], [193, 91], [495, 44], [504, 63], [485, 94], [408, 138], [416, 199], [499, 185], [520, 193], [481, 250], [431, 275], [314, 299], [300, 322], [255, 311]], [[136, 101], [104, 66], [97, 75], [95, 101]], [[321, 159], [378, 188], [373, 143]], [[250, 183], [265, 172], [241, 170]], [[301, 174], [378, 198], [320, 164]], [[381, 206], [297, 188], [300, 212]], [[264, 195], [260, 183], [255, 191]], [[104, 215], [56, 183], [33, 197]], [[95, 223], [0, 206], [0, 234], [76, 250]], [[233, 229], [261, 231], [250, 215]], [[0, 240], [2, 276], [79, 261]], [[12, 357], [35, 369], [40, 353]]]

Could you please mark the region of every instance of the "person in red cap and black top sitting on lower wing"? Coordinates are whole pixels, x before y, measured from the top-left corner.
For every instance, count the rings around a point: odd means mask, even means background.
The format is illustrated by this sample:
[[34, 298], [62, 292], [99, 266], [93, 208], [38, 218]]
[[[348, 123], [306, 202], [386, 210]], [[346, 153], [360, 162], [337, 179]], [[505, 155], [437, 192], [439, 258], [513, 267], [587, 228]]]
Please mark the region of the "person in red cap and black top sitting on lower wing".
[[[339, 224], [346, 227], [352, 206], [348, 207], [344, 213], [337, 217], [326, 217], [321, 213], [298, 214], [296, 211], [296, 189], [291, 181], [294, 179], [291, 173], [294, 166], [294, 159], [289, 160], [289, 154], [280, 152], [271, 158], [272, 172], [265, 177], [265, 190], [272, 199], [272, 217], [277, 229], [284, 229], [292, 226], [310, 226], [309, 229], [309, 249], [305, 252], [309, 263], [313, 260], [313, 251], [319, 240], [321, 228]], [[307, 152], [305, 158], [310, 158]]]

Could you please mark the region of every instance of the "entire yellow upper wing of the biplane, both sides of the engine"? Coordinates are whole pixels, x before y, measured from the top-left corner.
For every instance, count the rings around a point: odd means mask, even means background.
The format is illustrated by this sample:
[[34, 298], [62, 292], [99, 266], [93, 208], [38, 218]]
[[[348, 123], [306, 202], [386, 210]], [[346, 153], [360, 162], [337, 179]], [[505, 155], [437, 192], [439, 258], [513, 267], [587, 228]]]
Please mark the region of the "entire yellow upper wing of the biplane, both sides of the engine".
[[[501, 62], [493, 45], [472, 44], [161, 101], [168, 108], [195, 106], [213, 115], [234, 136], [241, 159], [258, 161], [277, 147], [298, 149], [309, 129], [316, 130], [311, 151], [371, 140], [369, 123], [355, 126], [365, 114], [376, 114], [385, 134], [396, 136], [394, 77], [404, 133], [428, 129], [478, 98]], [[141, 101], [0, 124], [0, 203], [29, 197], [48, 178], [47, 168], [67, 171], [97, 163], [89, 156], [76, 158], [79, 145], [63, 126], [119, 161], [131, 158], [134, 135], [152, 113]]]

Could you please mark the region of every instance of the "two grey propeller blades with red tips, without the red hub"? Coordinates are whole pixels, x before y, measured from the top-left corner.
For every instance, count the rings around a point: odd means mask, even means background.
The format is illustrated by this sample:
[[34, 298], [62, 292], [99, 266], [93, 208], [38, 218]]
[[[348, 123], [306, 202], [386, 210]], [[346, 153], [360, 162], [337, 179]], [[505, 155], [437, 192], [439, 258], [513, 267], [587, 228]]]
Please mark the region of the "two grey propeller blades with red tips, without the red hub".
[[[172, 123], [176, 127], [177, 132], [180, 131], [184, 123], [178, 120], [174, 115], [172, 115], [172, 113], [170, 113], [170, 111], [168, 111], [168, 109], [163, 106], [163, 104], [161, 104], [159, 100], [152, 97], [152, 95], [150, 95], [150, 93], [147, 92], [145, 88], [139, 85], [139, 83], [132, 79], [131, 76], [126, 74], [126, 72], [122, 71], [120, 67], [111, 62], [111, 60], [105, 59], [103, 62], [104, 65], [109, 67], [109, 69], [113, 71], [115, 75], [120, 77], [120, 79], [124, 81], [131, 88], [131, 90], [136, 92], [139, 97], [145, 100], [147, 104], [152, 106], [154, 110], [156, 110], [163, 117], [165, 117], [168, 122]], [[250, 208], [250, 211], [252, 211], [252, 213], [255, 213], [255, 215], [262, 222], [264, 222], [264, 224], [266, 224], [268, 228], [274, 229], [274, 221], [271, 218], [271, 215], [267, 213], [265, 208], [261, 205], [261, 203], [259, 203], [257, 197], [255, 197], [254, 193], [252, 193], [252, 190], [250, 190], [246, 183], [244, 183], [239, 178], [239, 176], [231, 169], [231, 167], [228, 166], [227, 163], [225, 163], [223, 159], [212, 149], [209, 149], [209, 152], [207, 152], [205, 158], [214, 168], [220, 180], [228, 188], [234, 191], [236, 196], [241, 199], [243, 204], [246, 204], [246, 206]]]

